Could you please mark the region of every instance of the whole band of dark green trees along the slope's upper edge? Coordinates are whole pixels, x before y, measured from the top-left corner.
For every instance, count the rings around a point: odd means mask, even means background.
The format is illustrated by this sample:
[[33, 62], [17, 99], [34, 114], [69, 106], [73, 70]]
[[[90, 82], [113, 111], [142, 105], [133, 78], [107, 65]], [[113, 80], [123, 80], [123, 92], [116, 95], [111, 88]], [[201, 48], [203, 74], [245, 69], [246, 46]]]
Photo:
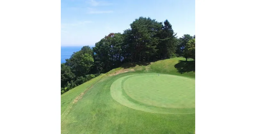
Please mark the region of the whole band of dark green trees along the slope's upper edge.
[[61, 94], [119, 67], [123, 63], [150, 62], [172, 57], [195, 60], [195, 35], [177, 33], [166, 19], [140, 17], [124, 33], [110, 33], [92, 49], [84, 46], [61, 64]]

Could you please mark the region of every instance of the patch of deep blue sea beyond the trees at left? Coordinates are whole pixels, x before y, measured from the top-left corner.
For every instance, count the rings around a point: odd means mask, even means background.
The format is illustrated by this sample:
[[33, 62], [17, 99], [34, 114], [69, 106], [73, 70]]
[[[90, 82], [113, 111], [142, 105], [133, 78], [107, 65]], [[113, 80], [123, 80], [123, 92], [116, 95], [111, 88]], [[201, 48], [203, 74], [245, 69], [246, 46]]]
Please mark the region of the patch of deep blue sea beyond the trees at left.
[[60, 49], [61, 49], [61, 63], [65, 63], [65, 59], [69, 59], [70, 56], [74, 53], [74, 52], [77, 52], [79, 50], [81, 50], [82, 46], [79, 46], [79, 47], [64, 47], [64, 46], [61, 46]]

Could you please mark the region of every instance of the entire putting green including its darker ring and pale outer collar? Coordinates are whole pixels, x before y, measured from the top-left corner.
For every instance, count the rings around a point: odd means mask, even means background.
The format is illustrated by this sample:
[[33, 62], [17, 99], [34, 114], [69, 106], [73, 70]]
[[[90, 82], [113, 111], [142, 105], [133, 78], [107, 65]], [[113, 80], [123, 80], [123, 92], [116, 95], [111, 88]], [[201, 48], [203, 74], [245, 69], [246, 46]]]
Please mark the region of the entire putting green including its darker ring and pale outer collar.
[[137, 110], [163, 114], [195, 113], [195, 80], [166, 74], [133, 74], [110, 88], [117, 102]]

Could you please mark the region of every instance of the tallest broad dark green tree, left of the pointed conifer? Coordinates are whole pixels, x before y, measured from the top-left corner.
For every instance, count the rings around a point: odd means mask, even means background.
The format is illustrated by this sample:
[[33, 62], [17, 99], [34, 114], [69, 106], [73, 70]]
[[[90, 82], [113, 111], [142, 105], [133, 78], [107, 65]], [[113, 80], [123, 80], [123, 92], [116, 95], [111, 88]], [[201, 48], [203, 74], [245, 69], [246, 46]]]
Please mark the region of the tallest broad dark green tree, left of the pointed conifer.
[[131, 28], [124, 31], [131, 52], [131, 61], [150, 61], [155, 59], [156, 45], [159, 43], [157, 34], [162, 23], [155, 19], [140, 17], [130, 24]]

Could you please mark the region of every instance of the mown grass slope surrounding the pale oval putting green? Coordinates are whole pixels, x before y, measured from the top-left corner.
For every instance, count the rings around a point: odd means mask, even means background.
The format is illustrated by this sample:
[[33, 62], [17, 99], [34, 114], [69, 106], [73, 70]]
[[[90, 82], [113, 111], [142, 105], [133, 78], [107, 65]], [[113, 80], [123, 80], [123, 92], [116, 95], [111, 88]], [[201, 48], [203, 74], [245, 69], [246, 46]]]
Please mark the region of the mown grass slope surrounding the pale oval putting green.
[[[195, 73], [190, 71], [191, 66], [188, 65], [191, 61], [184, 63], [179, 60], [184, 58], [117, 68], [62, 94], [61, 133], [194, 133], [195, 114], [165, 115], [134, 110], [113, 100], [109, 91], [111, 84], [117, 78], [137, 72], [157, 72], [195, 78]], [[135, 72], [109, 75], [124, 70]], [[76, 96], [92, 85], [93, 87], [81, 100], [72, 103]]]

